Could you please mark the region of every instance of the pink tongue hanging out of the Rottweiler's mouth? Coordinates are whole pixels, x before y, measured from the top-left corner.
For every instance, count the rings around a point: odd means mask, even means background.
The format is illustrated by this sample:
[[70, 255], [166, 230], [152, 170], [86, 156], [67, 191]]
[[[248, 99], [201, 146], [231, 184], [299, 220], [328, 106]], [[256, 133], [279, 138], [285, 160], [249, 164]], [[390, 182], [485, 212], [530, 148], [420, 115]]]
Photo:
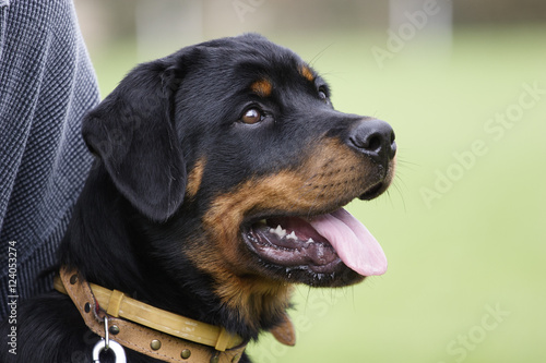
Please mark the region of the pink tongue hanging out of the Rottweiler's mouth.
[[347, 267], [363, 276], [383, 275], [387, 257], [368, 229], [341, 208], [308, 222], [334, 247]]

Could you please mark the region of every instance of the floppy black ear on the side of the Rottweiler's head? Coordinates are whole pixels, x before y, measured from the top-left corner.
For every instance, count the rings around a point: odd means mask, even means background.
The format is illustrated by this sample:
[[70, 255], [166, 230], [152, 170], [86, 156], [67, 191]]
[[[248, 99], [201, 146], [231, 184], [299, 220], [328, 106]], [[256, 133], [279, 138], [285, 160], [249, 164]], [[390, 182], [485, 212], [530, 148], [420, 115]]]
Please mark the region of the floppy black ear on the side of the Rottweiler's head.
[[83, 120], [82, 133], [116, 187], [142, 214], [162, 221], [180, 206], [186, 164], [175, 126], [179, 66], [167, 59], [132, 70]]

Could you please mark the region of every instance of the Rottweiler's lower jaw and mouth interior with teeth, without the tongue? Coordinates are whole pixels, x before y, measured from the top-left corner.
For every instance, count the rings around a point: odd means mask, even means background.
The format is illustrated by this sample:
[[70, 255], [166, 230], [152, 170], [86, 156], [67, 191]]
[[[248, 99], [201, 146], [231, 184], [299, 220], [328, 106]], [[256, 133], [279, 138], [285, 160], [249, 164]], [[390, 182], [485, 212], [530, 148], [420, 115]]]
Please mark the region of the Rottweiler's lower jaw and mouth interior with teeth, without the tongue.
[[343, 263], [308, 217], [263, 218], [248, 223], [241, 234], [268, 276], [313, 287], [343, 287], [365, 278]]

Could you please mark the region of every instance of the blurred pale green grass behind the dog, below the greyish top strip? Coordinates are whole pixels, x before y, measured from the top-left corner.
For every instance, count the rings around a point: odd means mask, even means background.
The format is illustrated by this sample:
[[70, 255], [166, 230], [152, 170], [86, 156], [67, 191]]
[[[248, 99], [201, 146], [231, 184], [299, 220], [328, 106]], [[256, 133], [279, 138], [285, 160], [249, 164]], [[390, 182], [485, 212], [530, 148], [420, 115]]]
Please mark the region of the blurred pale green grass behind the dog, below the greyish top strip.
[[[290, 314], [296, 348], [264, 335], [248, 349], [251, 356], [262, 363], [546, 361], [545, 31], [459, 29], [451, 57], [415, 41], [382, 70], [370, 52], [384, 45], [381, 37], [273, 37], [314, 58], [336, 108], [389, 121], [400, 162], [388, 195], [349, 206], [382, 243], [389, 271], [342, 290], [298, 287]], [[92, 55], [105, 94], [134, 62], [133, 50], [123, 52], [133, 56], [116, 62], [116, 53]], [[542, 92], [534, 104], [512, 116], [517, 121], [502, 135], [488, 132], [496, 114], [506, 118], [521, 97], [533, 100], [525, 84]], [[464, 168], [454, 154], [468, 157], [476, 142], [483, 153]], [[451, 185], [439, 192], [438, 174], [449, 170]], [[438, 195], [427, 203], [424, 189]]]

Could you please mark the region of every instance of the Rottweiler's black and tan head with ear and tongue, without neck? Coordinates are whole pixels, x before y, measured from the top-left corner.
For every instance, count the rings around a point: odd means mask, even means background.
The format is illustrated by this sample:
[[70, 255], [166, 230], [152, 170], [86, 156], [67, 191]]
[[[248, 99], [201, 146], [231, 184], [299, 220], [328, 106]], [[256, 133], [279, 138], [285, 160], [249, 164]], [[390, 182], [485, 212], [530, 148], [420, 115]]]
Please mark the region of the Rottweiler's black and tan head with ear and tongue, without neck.
[[168, 230], [158, 249], [170, 267], [189, 261], [227, 305], [282, 299], [287, 281], [339, 287], [387, 268], [343, 206], [389, 186], [392, 129], [335, 111], [324, 80], [263, 37], [139, 65], [83, 134], [135, 210]]

